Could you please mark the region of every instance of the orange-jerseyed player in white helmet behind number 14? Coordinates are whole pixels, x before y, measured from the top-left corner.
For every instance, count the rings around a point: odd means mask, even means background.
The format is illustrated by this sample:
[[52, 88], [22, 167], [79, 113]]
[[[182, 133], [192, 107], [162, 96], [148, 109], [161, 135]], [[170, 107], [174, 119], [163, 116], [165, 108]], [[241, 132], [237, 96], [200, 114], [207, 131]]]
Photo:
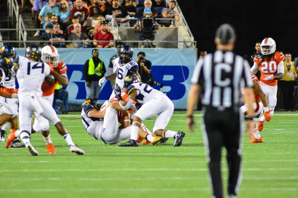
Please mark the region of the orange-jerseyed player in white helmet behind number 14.
[[[55, 87], [58, 83], [62, 86], [67, 86], [69, 79], [67, 77], [67, 66], [64, 62], [59, 62], [59, 53], [58, 50], [51, 45], [45, 46], [41, 50], [42, 56], [41, 60], [43, 62], [51, 63], [54, 71], [52, 72], [52, 79], [50, 77], [46, 82], [42, 84], [41, 90], [43, 91], [43, 98], [46, 99], [49, 104], [53, 104]], [[50, 136], [50, 125], [49, 121], [38, 114], [35, 114], [34, 124], [32, 126], [32, 133], [41, 132], [44, 140], [47, 143], [47, 151], [49, 154], [55, 154], [55, 148], [51, 141]]]

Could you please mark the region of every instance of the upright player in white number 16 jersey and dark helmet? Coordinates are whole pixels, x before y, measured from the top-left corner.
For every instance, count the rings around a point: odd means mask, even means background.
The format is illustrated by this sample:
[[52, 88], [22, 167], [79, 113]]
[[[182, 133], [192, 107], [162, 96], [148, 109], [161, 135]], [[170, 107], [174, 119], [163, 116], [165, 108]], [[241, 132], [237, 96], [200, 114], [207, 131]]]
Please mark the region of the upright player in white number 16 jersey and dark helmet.
[[[120, 87], [120, 89], [124, 89], [124, 79], [132, 74], [137, 74], [137, 76], [140, 76], [139, 74], [139, 65], [135, 61], [133, 61], [134, 56], [134, 49], [132, 49], [130, 46], [123, 46], [121, 48], [119, 57], [115, 59], [115, 62], [118, 62], [116, 64], [116, 72], [113, 73], [110, 76], [103, 77], [99, 80], [98, 84], [99, 86], [102, 86], [102, 83], [105, 80], [114, 80], [116, 79], [116, 84]], [[112, 95], [110, 96], [110, 99], [114, 98], [115, 94], [112, 92]]]

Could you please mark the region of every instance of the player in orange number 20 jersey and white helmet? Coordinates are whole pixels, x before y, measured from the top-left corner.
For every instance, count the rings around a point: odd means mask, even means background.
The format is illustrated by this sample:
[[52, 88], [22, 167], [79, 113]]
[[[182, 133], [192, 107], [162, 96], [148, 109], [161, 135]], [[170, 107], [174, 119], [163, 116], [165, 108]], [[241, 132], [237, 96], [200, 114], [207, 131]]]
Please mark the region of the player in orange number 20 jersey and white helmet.
[[[273, 115], [277, 102], [277, 81], [284, 77], [284, 59], [285, 55], [281, 51], [276, 50], [276, 43], [272, 38], [265, 38], [261, 43], [261, 53], [255, 55], [254, 64], [250, 71], [256, 73], [258, 69], [261, 72], [260, 86], [266, 94], [270, 115]], [[258, 129], [262, 131], [264, 128], [265, 116], [262, 115]]]

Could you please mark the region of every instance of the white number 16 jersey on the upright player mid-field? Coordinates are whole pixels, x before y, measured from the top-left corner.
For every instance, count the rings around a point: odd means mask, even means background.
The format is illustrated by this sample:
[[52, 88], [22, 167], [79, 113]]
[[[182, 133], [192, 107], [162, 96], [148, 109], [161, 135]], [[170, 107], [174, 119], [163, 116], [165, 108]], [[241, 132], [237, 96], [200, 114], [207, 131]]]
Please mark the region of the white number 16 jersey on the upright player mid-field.
[[139, 65], [133, 60], [126, 64], [120, 64], [119, 57], [115, 59], [115, 62], [118, 62], [116, 65], [116, 83], [123, 89], [125, 77], [130, 75], [130, 71], [139, 71]]

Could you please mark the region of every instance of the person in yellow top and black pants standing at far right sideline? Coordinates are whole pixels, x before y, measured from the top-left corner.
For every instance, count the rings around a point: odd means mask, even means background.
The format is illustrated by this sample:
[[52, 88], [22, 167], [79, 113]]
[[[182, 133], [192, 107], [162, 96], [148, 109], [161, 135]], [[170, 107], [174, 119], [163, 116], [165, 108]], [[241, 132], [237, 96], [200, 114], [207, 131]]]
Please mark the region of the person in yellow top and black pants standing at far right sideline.
[[286, 111], [290, 111], [293, 110], [291, 108], [291, 105], [294, 98], [293, 94], [296, 85], [297, 72], [294, 66], [294, 62], [292, 61], [292, 54], [287, 52], [285, 55], [285, 75], [281, 80], [279, 80], [278, 86], [281, 88], [281, 91], [283, 93], [284, 109]]

